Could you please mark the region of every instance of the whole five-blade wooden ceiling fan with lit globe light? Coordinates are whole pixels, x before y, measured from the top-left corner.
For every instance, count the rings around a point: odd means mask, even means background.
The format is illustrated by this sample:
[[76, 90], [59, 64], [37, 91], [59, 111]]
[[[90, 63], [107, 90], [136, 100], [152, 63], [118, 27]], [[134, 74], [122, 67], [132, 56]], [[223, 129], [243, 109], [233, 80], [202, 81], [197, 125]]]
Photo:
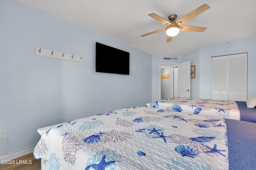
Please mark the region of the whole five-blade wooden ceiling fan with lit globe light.
[[196, 16], [198, 16], [199, 14], [202, 14], [204, 11], [208, 10], [210, 8], [210, 6], [208, 6], [207, 4], [203, 4], [202, 6], [196, 8], [194, 11], [188, 13], [186, 16], [180, 18], [179, 20], [175, 21], [177, 18], [176, 14], [172, 14], [170, 16], [168, 16], [168, 19], [170, 21], [165, 20], [164, 18], [152, 13], [152, 14], [148, 14], [148, 16], [154, 18], [155, 20], [157, 20], [158, 22], [166, 25], [166, 28], [162, 28], [162, 29], [158, 29], [156, 31], [144, 34], [144, 35], [140, 35], [140, 37], [144, 37], [147, 35], [151, 35], [154, 33], [158, 33], [161, 31], [166, 30], [166, 34], [167, 34], [167, 40], [166, 43], [172, 41], [172, 37], [177, 35], [179, 33], [179, 31], [197, 31], [197, 32], [204, 32], [204, 30], [206, 30], [206, 27], [197, 27], [197, 26], [191, 26], [191, 25], [183, 25], [184, 23], [192, 20], [193, 18], [195, 18]]

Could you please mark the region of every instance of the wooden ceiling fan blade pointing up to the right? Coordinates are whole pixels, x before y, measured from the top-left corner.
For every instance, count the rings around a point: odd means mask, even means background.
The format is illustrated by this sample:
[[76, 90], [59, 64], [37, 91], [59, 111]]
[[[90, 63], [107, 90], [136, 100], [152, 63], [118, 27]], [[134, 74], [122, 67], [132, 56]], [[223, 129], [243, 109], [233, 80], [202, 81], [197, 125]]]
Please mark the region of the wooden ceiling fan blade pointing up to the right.
[[202, 14], [204, 11], [208, 10], [209, 8], [210, 8], [210, 6], [208, 6], [207, 4], [203, 4], [202, 6], [196, 8], [194, 11], [188, 13], [186, 16], [177, 20], [176, 24], [177, 25], [183, 25], [184, 23], [192, 20], [193, 18], [195, 18], [199, 14]]

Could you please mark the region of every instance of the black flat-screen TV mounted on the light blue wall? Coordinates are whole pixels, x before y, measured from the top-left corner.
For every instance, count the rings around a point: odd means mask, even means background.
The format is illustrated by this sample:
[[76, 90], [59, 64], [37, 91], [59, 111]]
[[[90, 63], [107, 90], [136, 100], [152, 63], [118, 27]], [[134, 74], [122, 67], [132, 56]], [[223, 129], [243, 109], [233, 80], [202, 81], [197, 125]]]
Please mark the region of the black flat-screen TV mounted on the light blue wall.
[[130, 53], [96, 42], [96, 72], [129, 75]]

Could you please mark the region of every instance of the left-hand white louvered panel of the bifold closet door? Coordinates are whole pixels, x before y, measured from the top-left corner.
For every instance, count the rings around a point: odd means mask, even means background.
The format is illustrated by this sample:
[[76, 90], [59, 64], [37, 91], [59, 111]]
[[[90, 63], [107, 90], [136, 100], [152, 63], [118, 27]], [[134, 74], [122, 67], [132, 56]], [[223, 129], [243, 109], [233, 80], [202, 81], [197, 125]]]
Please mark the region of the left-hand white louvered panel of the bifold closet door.
[[212, 57], [212, 100], [228, 100], [228, 57]]

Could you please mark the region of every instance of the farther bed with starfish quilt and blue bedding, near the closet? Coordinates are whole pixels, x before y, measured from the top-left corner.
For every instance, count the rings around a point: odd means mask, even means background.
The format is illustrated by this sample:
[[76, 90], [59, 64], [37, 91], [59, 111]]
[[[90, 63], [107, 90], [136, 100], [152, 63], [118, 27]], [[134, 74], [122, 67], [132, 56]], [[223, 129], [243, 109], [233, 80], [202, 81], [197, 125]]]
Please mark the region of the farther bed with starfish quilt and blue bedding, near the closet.
[[212, 115], [256, 123], [256, 108], [248, 108], [246, 102], [167, 98], [147, 104], [148, 107], [179, 111], [197, 115]]

